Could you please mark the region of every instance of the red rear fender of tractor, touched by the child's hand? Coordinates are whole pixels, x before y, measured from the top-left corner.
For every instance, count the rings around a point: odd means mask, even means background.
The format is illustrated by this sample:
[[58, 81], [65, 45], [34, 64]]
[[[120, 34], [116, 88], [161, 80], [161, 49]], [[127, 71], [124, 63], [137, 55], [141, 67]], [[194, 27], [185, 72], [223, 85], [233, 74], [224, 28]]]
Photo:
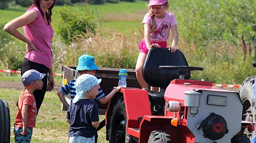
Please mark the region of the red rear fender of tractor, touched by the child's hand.
[[128, 128], [139, 128], [138, 117], [151, 115], [148, 91], [139, 88], [122, 88]]

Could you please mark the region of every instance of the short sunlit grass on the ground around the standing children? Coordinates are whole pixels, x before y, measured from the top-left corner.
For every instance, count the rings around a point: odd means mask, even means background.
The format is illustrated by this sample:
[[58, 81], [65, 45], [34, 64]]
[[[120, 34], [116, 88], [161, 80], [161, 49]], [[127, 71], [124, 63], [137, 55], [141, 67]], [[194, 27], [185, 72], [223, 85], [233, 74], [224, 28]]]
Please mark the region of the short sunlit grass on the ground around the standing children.
[[[13, 122], [17, 114], [16, 101], [21, 90], [0, 88], [0, 99], [9, 103], [11, 115], [11, 142], [14, 142]], [[61, 111], [61, 102], [55, 91], [47, 92], [37, 116], [36, 127], [33, 129], [32, 143], [65, 143], [68, 137], [66, 112]], [[100, 121], [104, 116], [100, 116]], [[105, 128], [98, 132], [98, 142], [106, 143]]]

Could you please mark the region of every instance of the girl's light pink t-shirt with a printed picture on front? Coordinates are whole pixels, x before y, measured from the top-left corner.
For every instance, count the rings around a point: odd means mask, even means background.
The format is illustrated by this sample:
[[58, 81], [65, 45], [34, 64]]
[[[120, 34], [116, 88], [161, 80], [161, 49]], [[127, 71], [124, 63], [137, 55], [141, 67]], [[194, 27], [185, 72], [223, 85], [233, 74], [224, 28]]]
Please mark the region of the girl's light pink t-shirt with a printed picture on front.
[[[163, 19], [158, 19], [154, 16], [154, 20], [156, 23], [156, 29], [154, 32], [150, 33], [150, 37], [152, 41], [168, 41], [170, 28], [171, 26], [177, 25], [177, 21], [174, 17], [173, 13], [166, 13]], [[149, 24], [150, 27], [152, 26], [152, 18], [150, 17], [149, 13], [147, 13], [142, 21], [142, 24], [145, 23]]]

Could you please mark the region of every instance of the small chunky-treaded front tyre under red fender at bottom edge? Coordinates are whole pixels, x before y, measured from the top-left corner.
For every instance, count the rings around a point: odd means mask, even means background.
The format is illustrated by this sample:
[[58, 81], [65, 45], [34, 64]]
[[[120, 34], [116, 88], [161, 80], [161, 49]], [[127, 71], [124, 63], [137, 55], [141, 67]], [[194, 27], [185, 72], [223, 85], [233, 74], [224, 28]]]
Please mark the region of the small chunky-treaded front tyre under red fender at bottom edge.
[[171, 143], [171, 137], [167, 132], [154, 130], [150, 133], [148, 143]]

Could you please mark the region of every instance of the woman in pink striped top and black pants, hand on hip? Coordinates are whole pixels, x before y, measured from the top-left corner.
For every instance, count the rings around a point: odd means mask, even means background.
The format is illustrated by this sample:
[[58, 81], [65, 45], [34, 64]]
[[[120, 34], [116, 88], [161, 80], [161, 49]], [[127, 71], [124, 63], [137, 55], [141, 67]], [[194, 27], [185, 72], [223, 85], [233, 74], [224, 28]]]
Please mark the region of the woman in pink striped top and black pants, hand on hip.
[[[22, 63], [21, 74], [30, 69], [48, 74], [42, 79], [42, 90], [35, 90], [33, 93], [36, 100], [37, 113], [46, 91], [51, 91], [54, 88], [51, 45], [53, 38], [51, 16], [54, 4], [55, 0], [33, 0], [33, 4], [26, 13], [4, 26], [4, 31], [26, 42], [26, 55]], [[25, 36], [17, 30], [22, 26]]]

